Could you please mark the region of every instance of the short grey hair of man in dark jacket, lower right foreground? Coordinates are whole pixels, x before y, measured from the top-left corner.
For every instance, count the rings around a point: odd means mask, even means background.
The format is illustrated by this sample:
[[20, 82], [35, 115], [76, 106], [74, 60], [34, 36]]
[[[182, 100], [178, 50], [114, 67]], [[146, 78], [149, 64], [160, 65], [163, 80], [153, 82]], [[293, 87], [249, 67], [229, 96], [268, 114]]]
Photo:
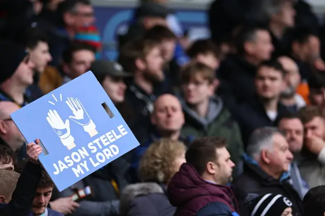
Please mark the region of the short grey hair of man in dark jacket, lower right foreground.
[[282, 134], [276, 127], [257, 128], [249, 137], [247, 154], [255, 160], [259, 160], [261, 151], [268, 149], [272, 151], [273, 136], [276, 133]]

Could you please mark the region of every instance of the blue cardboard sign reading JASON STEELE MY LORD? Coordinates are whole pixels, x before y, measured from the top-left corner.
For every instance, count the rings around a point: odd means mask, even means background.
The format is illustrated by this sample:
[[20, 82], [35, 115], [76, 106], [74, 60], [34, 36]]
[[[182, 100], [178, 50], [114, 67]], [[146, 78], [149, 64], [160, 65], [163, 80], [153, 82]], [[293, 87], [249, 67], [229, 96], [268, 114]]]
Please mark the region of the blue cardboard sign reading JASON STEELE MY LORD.
[[59, 191], [139, 146], [91, 71], [10, 115]]

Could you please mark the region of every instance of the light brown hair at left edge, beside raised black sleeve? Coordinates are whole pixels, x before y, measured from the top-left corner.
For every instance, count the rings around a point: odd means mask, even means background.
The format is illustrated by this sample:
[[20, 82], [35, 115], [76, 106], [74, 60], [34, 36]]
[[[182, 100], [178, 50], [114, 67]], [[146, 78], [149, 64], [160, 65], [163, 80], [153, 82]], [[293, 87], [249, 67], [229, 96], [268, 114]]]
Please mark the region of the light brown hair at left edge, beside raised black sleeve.
[[0, 169], [0, 196], [10, 200], [16, 189], [20, 174], [18, 172]]

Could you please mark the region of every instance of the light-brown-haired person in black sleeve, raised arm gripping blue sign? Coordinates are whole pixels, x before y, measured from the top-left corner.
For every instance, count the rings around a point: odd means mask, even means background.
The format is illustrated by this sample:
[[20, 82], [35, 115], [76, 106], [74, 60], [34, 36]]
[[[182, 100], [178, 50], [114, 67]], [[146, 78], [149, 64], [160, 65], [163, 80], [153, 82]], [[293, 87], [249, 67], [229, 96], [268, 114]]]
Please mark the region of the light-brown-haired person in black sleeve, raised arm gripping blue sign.
[[29, 161], [20, 175], [14, 171], [0, 170], [0, 215], [30, 215], [43, 170], [38, 161], [42, 147], [36, 143], [27, 145]]

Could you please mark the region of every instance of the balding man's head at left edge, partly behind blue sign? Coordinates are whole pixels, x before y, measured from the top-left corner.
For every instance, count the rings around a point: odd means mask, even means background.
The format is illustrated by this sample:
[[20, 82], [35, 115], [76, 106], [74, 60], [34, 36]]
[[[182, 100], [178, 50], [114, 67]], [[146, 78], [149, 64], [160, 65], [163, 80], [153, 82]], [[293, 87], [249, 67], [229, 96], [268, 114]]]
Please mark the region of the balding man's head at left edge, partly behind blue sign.
[[11, 101], [0, 101], [0, 145], [9, 146], [14, 152], [18, 152], [25, 143], [10, 114], [19, 110], [19, 106]]

